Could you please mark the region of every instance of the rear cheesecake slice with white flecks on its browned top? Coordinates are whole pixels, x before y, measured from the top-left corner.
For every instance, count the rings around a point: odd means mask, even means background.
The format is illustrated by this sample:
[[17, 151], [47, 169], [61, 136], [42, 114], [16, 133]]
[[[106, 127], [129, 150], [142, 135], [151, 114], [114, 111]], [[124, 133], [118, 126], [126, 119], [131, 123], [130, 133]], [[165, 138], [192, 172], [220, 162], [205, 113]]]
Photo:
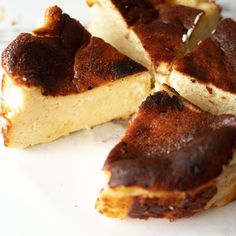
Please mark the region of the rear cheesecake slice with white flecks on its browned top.
[[[165, 82], [173, 61], [205, 39], [220, 17], [208, 0], [87, 0], [90, 32]], [[111, 30], [112, 29], [112, 30]]]

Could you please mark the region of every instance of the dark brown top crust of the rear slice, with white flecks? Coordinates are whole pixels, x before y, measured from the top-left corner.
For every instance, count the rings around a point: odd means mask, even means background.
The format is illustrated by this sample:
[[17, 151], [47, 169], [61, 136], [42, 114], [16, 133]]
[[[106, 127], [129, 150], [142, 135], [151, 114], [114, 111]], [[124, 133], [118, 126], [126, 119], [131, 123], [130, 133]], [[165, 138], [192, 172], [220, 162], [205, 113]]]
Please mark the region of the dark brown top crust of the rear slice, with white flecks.
[[168, 1], [112, 0], [129, 27], [136, 32], [152, 61], [170, 63], [182, 53], [183, 35], [195, 27], [198, 9]]

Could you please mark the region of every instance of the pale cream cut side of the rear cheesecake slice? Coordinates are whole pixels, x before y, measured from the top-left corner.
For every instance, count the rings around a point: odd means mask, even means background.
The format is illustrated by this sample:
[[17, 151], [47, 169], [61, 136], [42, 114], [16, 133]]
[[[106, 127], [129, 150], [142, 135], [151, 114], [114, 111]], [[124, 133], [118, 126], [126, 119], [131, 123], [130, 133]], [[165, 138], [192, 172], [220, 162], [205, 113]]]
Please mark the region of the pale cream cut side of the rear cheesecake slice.
[[137, 35], [128, 28], [123, 17], [109, 0], [99, 0], [91, 8], [91, 24], [88, 30], [104, 39], [118, 51], [151, 69], [149, 54], [144, 50]]

